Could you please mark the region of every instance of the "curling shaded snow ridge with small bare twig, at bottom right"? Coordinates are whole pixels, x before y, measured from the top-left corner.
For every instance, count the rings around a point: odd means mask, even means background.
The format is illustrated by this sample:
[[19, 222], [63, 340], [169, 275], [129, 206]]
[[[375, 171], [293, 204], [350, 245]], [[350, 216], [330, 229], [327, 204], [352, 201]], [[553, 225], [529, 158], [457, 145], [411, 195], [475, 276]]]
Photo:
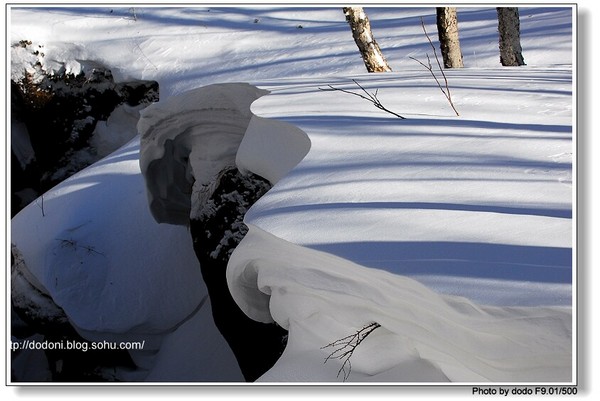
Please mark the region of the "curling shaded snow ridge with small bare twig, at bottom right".
[[249, 227], [229, 262], [232, 295], [289, 330], [265, 381], [339, 381], [321, 347], [371, 322], [382, 327], [356, 348], [349, 381], [571, 380], [571, 308], [479, 306]]

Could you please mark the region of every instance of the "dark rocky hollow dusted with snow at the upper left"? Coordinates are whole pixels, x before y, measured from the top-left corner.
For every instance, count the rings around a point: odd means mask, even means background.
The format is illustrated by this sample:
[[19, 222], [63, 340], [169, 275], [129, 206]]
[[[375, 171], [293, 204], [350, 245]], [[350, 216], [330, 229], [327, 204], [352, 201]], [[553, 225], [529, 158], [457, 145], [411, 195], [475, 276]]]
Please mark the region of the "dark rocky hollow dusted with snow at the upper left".
[[[22, 41], [20, 46], [28, 47]], [[36, 58], [43, 56], [35, 50]], [[36, 59], [37, 60], [37, 59]], [[93, 140], [97, 123], [108, 121], [117, 107], [143, 107], [158, 100], [156, 81], [115, 82], [110, 69], [96, 62], [78, 74], [47, 72], [41, 62], [11, 80], [11, 197], [14, 216], [54, 185], [114, 151], [135, 135], [120, 138], [110, 149]]]

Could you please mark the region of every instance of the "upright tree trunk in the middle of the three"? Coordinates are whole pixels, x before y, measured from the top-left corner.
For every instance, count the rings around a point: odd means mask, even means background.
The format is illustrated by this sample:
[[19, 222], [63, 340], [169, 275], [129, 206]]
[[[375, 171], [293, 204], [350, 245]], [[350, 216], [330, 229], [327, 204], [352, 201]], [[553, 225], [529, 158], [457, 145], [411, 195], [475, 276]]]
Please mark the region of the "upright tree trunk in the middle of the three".
[[456, 7], [437, 7], [437, 27], [440, 50], [445, 68], [462, 68], [462, 53], [458, 39], [458, 19]]

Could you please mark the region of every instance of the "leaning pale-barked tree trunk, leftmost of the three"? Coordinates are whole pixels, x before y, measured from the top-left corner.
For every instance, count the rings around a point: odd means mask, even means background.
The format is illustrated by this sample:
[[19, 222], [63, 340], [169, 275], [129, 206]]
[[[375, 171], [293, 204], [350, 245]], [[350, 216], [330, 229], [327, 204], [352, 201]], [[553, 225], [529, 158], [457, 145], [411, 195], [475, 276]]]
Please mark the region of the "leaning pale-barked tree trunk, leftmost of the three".
[[346, 21], [352, 29], [354, 42], [369, 72], [392, 71], [371, 32], [371, 24], [362, 7], [344, 7]]

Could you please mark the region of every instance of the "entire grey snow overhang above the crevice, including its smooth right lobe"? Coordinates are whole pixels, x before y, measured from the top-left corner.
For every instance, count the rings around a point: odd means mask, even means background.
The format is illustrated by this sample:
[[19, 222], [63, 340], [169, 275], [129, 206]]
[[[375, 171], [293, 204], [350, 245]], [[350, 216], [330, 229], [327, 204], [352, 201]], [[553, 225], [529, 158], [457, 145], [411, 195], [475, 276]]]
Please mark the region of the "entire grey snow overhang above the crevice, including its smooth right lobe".
[[140, 166], [159, 223], [187, 225], [225, 167], [275, 183], [306, 155], [304, 132], [252, 114], [252, 102], [267, 93], [247, 83], [213, 84], [140, 113]]

